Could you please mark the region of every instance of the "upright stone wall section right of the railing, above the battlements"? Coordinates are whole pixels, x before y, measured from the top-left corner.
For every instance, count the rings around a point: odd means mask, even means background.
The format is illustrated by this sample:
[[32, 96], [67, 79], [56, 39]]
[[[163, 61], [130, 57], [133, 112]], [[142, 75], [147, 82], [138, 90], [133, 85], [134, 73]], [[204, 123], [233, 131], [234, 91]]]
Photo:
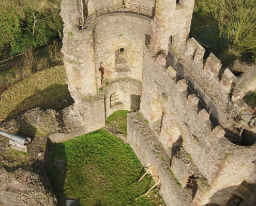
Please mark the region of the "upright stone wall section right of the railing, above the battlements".
[[190, 31], [194, 0], [157, 0], [152, 24], [150, 48], [157, 53], [169, 47], [185, 49]]

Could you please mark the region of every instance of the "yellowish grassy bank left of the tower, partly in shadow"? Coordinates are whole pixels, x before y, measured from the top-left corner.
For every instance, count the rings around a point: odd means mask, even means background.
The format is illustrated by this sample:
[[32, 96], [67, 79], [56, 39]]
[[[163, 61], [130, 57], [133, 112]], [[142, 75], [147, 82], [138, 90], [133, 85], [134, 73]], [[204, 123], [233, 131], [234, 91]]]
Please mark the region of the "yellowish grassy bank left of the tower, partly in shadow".
[[59, 65], [12, 85], [1, 95], [0, 122], [36, 107], [58, 110], [72, 104], [65, 76], [64, 65]]

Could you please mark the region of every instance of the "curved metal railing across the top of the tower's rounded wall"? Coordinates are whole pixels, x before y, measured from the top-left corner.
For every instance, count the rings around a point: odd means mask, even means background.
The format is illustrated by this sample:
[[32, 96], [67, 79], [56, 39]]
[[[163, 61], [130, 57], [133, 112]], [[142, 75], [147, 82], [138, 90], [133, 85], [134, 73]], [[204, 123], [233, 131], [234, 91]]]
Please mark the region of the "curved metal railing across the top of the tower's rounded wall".
[[91, 24], [93, 20], [95, 20], [97, 17], [108, 14], [108, 13], [116, 13], [116, 12], [122, 12], [122, 13], [134, 13], [138, 15], [147, 16], [150, 19], [154, 18], [154, 9], [148, 8], [145, 6], [137, 5], [137, 4], [125, 4], [122, 3], [119, 4], [113, 4], [101, 7], [94, 11], [91, 15], [87, 16], [87, 18], [84, 20], [78, 18], [77, 19], [77, 27], [79, 29], [87, 29], [88, 26]]

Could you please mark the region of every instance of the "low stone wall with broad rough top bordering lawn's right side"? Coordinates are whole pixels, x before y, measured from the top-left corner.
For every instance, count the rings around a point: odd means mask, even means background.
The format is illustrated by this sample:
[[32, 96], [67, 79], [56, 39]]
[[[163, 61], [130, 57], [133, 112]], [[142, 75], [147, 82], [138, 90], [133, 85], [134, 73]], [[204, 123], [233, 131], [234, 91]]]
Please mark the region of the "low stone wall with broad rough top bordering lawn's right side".
[[168, 155], [145, 119], [139, 113], [130, 113], [127, 122], [128, 142], [144, 166], [154, 165], [157, 169], [161, 179], [160, 192], [165, 203], [169, 206], [192, 206], [192, 198], [187, 196], [189, 191], [179, 188], [171, 175]]

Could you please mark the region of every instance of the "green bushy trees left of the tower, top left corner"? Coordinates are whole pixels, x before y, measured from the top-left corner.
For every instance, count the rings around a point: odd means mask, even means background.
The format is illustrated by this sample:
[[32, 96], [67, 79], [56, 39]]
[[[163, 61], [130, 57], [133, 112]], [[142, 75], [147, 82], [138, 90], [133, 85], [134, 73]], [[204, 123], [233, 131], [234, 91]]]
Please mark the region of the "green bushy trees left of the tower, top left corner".
[[63, 29], [59, 11], [57, 0], [0, 0], [0, 57], [58, 37]]

